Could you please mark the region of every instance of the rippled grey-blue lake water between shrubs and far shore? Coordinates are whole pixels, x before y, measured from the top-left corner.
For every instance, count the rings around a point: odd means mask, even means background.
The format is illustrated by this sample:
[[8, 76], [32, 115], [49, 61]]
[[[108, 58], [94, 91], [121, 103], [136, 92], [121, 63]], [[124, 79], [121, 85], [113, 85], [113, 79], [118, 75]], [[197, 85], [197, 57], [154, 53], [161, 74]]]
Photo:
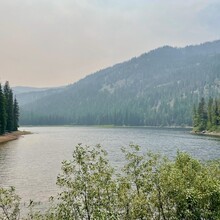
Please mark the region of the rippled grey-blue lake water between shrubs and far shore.
[[101, 144], [114, 167], [121, 167], [121, 147], [138, 144], [142, 152], [152, 151], [170, 158], [177, 150], [201, 159], [220, 157], [220, 138], [191, 135], [187, 129], [21, 127], [33, 134], [0, 145], [0, 186], [15, 186], [22, 201], [46, 202], [56, 195], [56, 177], [61, 162], [71, 159], [78, 143]]

